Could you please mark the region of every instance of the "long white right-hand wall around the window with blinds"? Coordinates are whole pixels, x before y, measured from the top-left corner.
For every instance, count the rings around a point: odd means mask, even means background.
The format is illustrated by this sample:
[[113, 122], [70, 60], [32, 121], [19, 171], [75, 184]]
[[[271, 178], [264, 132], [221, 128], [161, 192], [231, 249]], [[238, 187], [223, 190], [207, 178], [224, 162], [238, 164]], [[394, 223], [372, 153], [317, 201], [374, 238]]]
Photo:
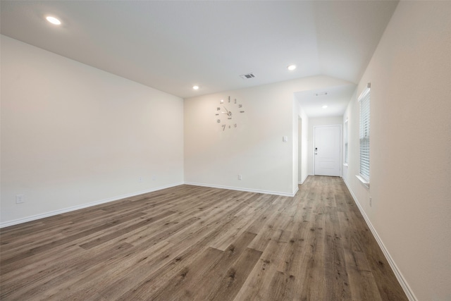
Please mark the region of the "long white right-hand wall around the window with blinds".
[[371, 82], [370, 190], [354, 176], [356, 97], [343, 116], [347, 185], [412, 300], [451, 300], [450, 16], [450, 1], [400, 1], [359, 82], [356, 95]]

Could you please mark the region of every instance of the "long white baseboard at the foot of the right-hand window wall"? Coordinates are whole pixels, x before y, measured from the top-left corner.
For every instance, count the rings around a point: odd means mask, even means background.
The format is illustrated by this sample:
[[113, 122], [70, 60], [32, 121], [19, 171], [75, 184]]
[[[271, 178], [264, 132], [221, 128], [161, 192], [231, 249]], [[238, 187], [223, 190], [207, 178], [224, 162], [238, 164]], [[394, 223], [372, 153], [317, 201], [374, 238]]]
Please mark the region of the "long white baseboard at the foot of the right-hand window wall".
[[404, 290], [404, 293], [407, 295], [407, 298], [410, 301], [417, 301], [418, 299], [416, 299], [414, 292], [412, 291], [412, 289], [409, 286], [409, 283], [407, 283], [404, 276], [402, 276], [400, 269], [398, 269], [397, 265], [395, 264], [395, 261], [393, 260], [393, 258], [390, 255], [390, 252], [388, 252], [387, 248], [383, 244], [381, 237], [378, 235], [376, 229], [373, 227], [373, 224], [369, 220], [368, 216], [366, 216], [364, 209], [362, 208], [359, 201], [357, 200], [357, 197], [354, 195], [354, 192], [351, 190], [350, 185], [347, 184], [347, 181], [344, 178], [343, 178], [343, 182], [345, 182], [347, 190], [350, 191], [355, 204], [357, 204], [357, 207], [359, 208], [360, 213], [364, 217], [366, 225], [371, 230], [371, 233], [373, 233], [374, 238], [376, 238], [376, 241], [378, 242], [379, 247], [381, 247], [381, 250], [382, 250], [383, 254], [385, 255], [385, 259], [387, 259], [388, 264], [390, 264], [390, 267], [393, 270], [393, 273], [395, 273], [397, 281], [400, 283], [402, 290]]

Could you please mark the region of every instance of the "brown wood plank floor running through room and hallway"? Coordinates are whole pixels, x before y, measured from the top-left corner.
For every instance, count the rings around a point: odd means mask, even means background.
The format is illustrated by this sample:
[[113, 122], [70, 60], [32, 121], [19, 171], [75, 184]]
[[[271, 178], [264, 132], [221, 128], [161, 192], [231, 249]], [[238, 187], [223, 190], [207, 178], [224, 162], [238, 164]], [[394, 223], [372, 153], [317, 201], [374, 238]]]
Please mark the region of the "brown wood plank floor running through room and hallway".
[[407, 300], [341, 178], [181, 185], [1, 229], [1, 300]]

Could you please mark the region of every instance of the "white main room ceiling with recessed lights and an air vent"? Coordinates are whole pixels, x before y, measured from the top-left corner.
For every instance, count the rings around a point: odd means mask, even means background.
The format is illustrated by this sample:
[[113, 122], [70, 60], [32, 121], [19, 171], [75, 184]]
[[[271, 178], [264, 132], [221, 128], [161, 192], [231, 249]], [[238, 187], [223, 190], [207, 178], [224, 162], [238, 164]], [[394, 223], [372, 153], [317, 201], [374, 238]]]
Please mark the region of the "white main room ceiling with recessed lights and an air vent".
[[[187, 98], [312, 75], [355, 84], [396, 5], [1, 0], [0, 19], [3, 35]], [[63, 24], [47, 23], [48, 15]], [[243, 80], [244, 73], [256, 78]]]

